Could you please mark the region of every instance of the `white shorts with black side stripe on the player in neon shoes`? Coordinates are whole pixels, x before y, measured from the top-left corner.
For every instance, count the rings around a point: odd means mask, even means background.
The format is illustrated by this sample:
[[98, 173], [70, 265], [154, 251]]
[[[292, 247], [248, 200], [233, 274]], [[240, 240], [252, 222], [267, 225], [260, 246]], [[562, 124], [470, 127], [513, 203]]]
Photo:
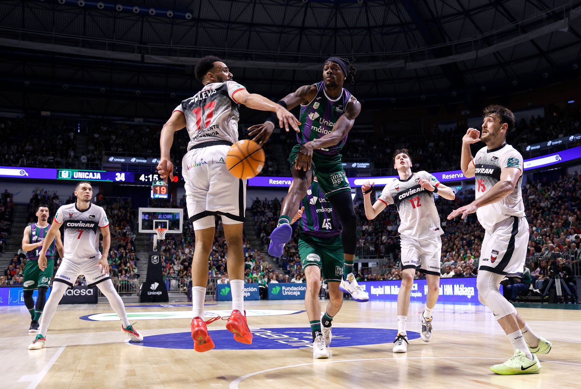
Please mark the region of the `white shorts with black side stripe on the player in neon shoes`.
[[528, 247], [529, 222], [526, 217], [506, 218], [486, 230], [478, 271], [522, 278]]

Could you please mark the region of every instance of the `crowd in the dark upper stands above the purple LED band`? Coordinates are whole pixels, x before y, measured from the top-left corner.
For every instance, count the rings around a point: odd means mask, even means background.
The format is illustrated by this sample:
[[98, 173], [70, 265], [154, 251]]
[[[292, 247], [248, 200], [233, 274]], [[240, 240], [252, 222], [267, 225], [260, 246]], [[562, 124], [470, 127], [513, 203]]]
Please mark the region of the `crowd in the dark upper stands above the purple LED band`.
[[[579, 123], [581, 112], [574, 109], [558, 110], [547, 113], [544, 117], [531, 116], [521, 119], [508, 135], [508, 141], [523, 156], [527, 156], [526, 146], [536, 142], [547, 141], [561, 136], [581, 132]], [[240, 125], [240, 138], [247, 138], [245, 128]], [[7, 134], [0, 144], [0, 164], [8, 166], [61, 167], [71, 163], [80, 163], [89, 167], [99, 167], [105, 155], [126, 155], [138, 153], [141, 156], [159, 156], [159, 143], [152, 139], [159, 138], [160, 125], [119, 123], [112, 121], [91, 121], [53, 117], [0, 118], [0, 131]], [[343, 160], [372, 160], [375, 168], [389, 169], [381, 161], [390, 161], [393, 150], [406, 147], [413, 154], [416, 170], [429, 171], [456, 170], [459, 166], [460, 153], [446, 153], [446, 150], [460, 150], [461, 138], [465, 128], [451, 128], [440, 131], [432, 129], [427, 134], [417, 129], [417, 136], [410, 136], [408, 131], [390, 131], [382, 136], [370, 132], [358, 132], [357, 128], [349, 134], [349, 141], [343, 147]], [[78, 136], [85, 136], [85, 150], [77, 155]], [[179, 131], [174, 136], [171, 154], [174, 166], [181, 166], [181, 158], [187, 152], [188, 136]], [[282, 145], [284, 159], [290, 149], [296, 145], [294, 134], [274, 134], [264, 145], [266, 165], [261, 175], [290, 175], [288, 166], [277, 165], [279, 147]], [[578, 142], [577, 146], [581, 144]]]

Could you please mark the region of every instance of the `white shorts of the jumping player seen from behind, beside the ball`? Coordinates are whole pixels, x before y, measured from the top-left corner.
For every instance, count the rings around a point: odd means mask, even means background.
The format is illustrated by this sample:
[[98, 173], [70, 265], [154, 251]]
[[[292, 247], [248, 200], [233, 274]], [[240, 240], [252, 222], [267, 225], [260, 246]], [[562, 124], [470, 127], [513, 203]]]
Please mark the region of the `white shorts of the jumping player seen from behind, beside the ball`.
[[192, 148], [182, 160], [188, 217], [195, 230], [214, 227], [216, 215], [223, 224], [244, 222], [246, 180], [234, 177], [226, 167], [230, 146], [211, 143]]

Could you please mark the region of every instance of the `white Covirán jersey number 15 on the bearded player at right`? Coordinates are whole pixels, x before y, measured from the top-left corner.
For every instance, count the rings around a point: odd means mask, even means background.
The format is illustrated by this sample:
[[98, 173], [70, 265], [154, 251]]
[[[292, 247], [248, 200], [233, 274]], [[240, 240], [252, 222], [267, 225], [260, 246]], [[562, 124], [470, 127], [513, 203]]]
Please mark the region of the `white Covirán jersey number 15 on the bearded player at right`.
[[523, 217], [525, 204], [522, 203], [522, 156], [511, 145], [488, 150], [482, 147], [474, 157], [474, 174], [476, 179], [476, 199], [487, 193], [490, 188], [500, 181], [500, 172], [504, 168], [519, 168], [521, 178], [518, 179], [514, 191], [496, 203], [489, 204], [476, 210], [478, 221], [484, 229], [491, 229], [495, 224], [511, 216]]

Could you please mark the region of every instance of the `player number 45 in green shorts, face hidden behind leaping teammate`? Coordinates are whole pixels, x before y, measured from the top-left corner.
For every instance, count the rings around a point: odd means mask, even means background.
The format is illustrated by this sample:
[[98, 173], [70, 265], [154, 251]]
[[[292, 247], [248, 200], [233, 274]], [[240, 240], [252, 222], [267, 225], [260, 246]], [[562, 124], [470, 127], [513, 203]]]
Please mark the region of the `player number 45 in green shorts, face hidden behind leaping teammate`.
[[[325, 199], [317, 177], [313, 178], [300, 205], [302, 207], [291, 223], [299, 221], [300, 263], [307, 278], [304, 306], [313, 334], [313, 358], [329, 358], [327, 347], [331, 344], [331, 322], [343, 305], [343, 292], [339, 289], [343, 275], [341, 224], [330, 201]], [[322, 315], [319, 301], [321, 274], [329, 287], [331, 299]]]

